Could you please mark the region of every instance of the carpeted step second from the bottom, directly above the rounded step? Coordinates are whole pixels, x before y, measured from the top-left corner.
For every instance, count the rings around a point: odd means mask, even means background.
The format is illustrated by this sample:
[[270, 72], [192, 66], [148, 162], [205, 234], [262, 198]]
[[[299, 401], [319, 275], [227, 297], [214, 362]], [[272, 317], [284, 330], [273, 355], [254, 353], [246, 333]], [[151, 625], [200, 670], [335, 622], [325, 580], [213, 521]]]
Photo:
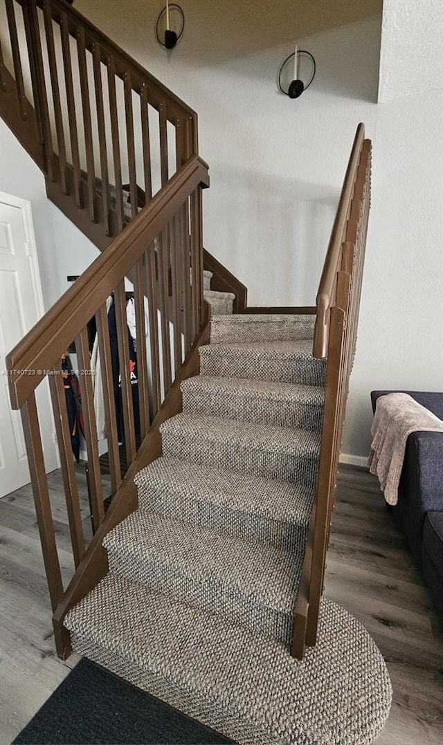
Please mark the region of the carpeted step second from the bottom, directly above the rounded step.
[[290, 644], [300, 554], [141, 510], [104, 546], [110, 571]]

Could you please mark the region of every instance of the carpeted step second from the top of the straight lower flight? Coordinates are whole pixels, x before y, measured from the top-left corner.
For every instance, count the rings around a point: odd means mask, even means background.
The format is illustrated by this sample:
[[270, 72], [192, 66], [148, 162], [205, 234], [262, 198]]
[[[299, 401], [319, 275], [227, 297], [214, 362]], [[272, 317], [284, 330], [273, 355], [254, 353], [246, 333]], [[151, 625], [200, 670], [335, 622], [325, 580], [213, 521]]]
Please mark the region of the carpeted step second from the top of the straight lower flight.
[[207, 344], [198, 351], [201, 375], [312, 386], [324, 386], [326, 378], [326, 360], [312, 358], [309, 339]]

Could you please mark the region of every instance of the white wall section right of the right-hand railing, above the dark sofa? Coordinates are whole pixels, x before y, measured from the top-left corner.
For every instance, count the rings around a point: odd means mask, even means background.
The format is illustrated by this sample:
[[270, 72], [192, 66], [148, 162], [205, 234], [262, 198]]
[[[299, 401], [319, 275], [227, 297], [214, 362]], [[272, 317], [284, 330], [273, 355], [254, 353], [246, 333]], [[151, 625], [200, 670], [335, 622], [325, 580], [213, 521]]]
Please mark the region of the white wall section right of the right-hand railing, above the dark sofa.
[[442, 96], [380, 104], [343, 451], [370, 445], [373, 389], [443, 390]]

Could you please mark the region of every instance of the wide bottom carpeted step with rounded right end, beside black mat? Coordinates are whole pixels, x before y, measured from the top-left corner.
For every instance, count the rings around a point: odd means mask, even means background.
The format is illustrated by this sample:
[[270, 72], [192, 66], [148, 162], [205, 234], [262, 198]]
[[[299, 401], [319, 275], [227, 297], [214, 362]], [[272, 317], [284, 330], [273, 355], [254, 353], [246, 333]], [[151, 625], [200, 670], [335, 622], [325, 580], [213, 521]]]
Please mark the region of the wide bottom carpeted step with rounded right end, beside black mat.
[[389, 713], [380, 651], [327, 600], [301, 662], [277, 641], [112, 573], [65, 625], [78, 653], [244, 745], [369, 745]]

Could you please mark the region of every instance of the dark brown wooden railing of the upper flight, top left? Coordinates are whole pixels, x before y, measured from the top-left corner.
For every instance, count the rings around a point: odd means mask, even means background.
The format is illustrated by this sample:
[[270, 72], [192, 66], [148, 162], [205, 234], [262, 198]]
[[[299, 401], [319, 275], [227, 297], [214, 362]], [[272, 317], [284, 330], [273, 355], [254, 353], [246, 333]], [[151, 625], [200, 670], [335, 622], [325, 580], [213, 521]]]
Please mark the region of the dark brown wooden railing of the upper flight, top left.
[[103, 248], [137, 214], [139, 188], [149, 200], [198, 153], [197, 115], [63, 0], [0, 0], [1, 17], [4, 118], [31, 118], [48, 196], [98, 223]]

